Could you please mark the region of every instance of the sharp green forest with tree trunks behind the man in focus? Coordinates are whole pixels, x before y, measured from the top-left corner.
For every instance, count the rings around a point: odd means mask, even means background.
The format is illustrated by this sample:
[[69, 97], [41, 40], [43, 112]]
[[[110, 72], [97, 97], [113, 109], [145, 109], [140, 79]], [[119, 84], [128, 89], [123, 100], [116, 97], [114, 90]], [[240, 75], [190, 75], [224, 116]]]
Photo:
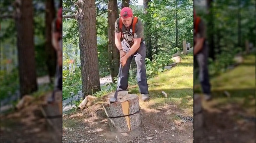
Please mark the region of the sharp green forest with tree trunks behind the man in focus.
[[[79, 9], [74, 1], [64, 0], [63, 100], [72, 96], [81, 98], [81, 95], [83, 99], [87, 95], [100, 96], [113, 91], [116, 87], [115, 82], [119, 72], [119, 65], [116, 63], [120, 57], [113, 42], [113, 29], [121, 8], [132, 8], [134, 16], [139, 17], [144, 24], [147, 77], [151, 78], [164, 71], [164, 66], [170, 63], [173, 54], [183, 51], [183, 40], [193, 43], [192, 4], [192, 0], [95, 1], [96, 23], [93, 23], [92, 19], [87, 24], [80, 23], [79, 14], [83, 11], [89, 12], [88, 9]], [[86, 16], [94, 17], [94, 15]], [[87, 29], [90, 24], [96, 24], [96, 31]], [[136, 70], [133, 61], [129, 71], [129, 85], [136, 84]], [[100, 79], [109, 78], [110, 75], [109, 83], [99, 82]], [[74, 104], [78, 105], [79, 102], [80, 100]]]

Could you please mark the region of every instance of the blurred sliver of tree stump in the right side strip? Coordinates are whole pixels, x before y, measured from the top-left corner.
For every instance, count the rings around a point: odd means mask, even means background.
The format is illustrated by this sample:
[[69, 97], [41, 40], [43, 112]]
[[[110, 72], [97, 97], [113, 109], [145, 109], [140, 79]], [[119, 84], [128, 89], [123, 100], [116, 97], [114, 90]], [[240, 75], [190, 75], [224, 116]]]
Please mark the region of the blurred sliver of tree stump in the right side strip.
[[194, 94], [194, 136], [195, 138], [202, 135], [203, 127], [203, 109], [201, 97]]

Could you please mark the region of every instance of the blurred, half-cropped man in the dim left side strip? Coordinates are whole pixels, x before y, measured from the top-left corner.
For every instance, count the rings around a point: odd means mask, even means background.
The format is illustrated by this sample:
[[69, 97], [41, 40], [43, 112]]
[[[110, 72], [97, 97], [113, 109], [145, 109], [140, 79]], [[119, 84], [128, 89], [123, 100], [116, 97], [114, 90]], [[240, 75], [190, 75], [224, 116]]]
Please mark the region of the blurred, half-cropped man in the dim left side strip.
[[52, 23], [52, 44], [57, 54], [56, 79], [52, 98], [49, 102], [54, 101], [54, 92], [62, 90], [62, 7], [57, 12], [57, 18]]

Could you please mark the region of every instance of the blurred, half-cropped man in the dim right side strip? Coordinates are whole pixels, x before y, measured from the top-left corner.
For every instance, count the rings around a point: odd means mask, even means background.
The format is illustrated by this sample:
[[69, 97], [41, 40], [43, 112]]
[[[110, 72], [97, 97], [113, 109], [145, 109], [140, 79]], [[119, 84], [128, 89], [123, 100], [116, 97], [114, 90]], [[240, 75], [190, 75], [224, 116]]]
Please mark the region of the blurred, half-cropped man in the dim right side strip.
[[208, 73], [208, 52], [209, 47], [206, 42], [205, 25], [200, 17], [196, 16], [194, 10], [194, 57], [199, 65], [199, 78], [203, 89], [205, 100], [211, 99], [211, 85]]

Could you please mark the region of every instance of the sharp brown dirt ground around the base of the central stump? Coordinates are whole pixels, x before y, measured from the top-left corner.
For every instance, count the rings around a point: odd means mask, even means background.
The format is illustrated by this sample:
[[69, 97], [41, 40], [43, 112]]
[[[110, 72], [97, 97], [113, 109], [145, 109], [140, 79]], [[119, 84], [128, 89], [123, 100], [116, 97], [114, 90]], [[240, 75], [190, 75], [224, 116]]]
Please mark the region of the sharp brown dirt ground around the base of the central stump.
[[[168, 118], [180, 113], [175, 106], [165, 105], [158, 110], [142, 107], [141, 111], [148, 135], [171, 129], [179, 122]], [[111, 132], [101, 104], [63, 117], [63, 142], [130, 142], [140, 134], [141, 127], [130, 133]], [[140, 142], [193, 142], [193, 123], [184, 123], [176, 131], [149, 138], [146, 135]]]

